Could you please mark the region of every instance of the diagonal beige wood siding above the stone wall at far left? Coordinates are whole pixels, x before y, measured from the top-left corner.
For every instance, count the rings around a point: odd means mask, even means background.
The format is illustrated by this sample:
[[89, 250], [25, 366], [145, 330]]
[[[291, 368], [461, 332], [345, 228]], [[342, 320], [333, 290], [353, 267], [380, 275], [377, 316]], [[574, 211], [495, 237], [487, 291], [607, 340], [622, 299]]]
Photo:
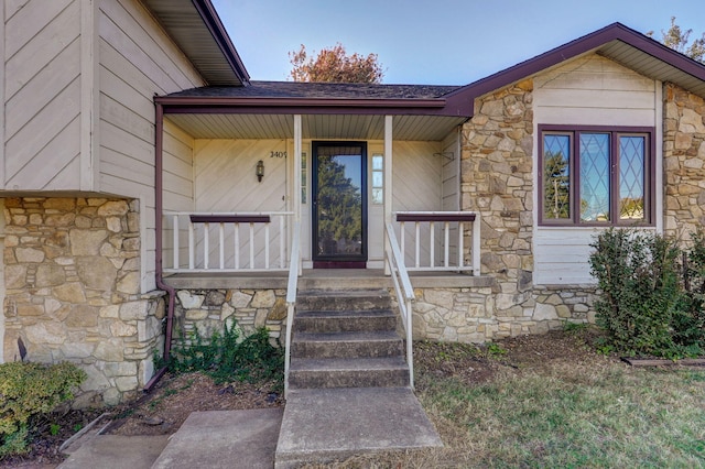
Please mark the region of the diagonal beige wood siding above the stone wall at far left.
[[2, 189], [77, 188], [80, 1], [3, 3]]

